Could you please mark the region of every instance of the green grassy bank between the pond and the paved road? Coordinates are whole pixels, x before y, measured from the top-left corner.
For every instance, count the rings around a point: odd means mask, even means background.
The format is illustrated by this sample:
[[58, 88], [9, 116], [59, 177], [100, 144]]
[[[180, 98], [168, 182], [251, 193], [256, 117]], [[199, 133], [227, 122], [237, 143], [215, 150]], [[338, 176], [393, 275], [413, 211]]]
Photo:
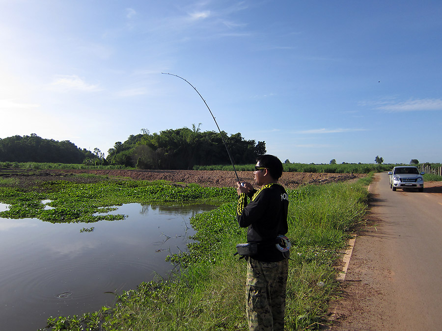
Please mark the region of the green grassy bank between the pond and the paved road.
[[[337, 251], [348, 231], [363, 222], [367, 199], [359, 182], [290, 191], [288, 236], [293, 248], [286, 330], [318, 330], [324, 323], [328, 302], [337, 296]], [[130, 314], [131, 319], [117, 323], [115, 330], [248, 330], [246, 262], [233, 257], [235, 244], [245, 241], [246, 232], [238, 229], [234, 213], [235, 204], [229, 203], [193, 218], [196, 242], [188, 253], [172, 256], [183, 265], [183, 273], [131, 292], [130, 298], [147, 297], [137, 309], [132, 299], [119, 301], [114, 318], [122, 321], [118, 316]], [[146, 291], [146, 286], [155, 289]]]

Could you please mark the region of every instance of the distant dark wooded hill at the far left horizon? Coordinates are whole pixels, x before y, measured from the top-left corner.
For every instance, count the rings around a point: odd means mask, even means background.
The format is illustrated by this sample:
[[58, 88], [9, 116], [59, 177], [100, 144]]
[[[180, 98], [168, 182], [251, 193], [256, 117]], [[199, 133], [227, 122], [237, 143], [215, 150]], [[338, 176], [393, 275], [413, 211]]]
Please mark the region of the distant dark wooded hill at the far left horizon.
[[95, 158], [96, 155], [69, 140], [43, 139], [35, 133], [0, 139], [0, 161], [83, 163], [86, 157]]

